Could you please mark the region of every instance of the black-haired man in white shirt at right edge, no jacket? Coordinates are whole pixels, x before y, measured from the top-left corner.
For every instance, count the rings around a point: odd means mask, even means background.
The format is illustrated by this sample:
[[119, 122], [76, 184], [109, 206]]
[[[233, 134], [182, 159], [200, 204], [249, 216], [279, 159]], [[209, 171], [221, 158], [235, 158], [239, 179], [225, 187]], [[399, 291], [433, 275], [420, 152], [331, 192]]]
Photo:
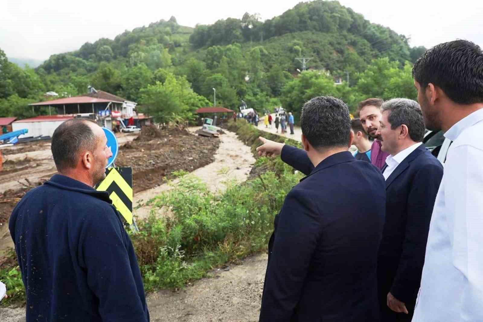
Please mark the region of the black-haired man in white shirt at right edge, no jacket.
[[483, 52], [465, 40], [414, 64], [426, 127], [451, 139], [413, 322], [483, 321]]

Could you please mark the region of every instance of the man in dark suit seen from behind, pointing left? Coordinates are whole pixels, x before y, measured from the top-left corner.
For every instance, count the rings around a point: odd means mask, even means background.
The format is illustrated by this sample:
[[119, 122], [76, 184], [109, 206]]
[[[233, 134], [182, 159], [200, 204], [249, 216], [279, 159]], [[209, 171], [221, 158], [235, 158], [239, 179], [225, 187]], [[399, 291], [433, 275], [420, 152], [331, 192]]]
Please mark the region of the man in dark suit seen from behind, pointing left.
[[[312, 170], [288, 193], [276, 220], [260, 321], [379, 321], [376, 266], [384, 177], [348, 151], [353, 134], [342, 101], [306, 102], [301, 128]], [[289, 157], [285, 150], [297, 150], [270, 143]]]

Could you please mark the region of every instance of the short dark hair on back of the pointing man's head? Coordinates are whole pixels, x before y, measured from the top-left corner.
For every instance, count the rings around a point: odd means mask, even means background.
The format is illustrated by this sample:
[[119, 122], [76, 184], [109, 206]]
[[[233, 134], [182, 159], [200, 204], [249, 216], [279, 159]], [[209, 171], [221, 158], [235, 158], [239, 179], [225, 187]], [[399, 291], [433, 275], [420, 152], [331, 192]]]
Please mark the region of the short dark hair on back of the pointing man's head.
[[331, 96], [314, 97], [302, 106], [300, 127], [316, 149], [347, 146], [351, 136], [349, 108]]

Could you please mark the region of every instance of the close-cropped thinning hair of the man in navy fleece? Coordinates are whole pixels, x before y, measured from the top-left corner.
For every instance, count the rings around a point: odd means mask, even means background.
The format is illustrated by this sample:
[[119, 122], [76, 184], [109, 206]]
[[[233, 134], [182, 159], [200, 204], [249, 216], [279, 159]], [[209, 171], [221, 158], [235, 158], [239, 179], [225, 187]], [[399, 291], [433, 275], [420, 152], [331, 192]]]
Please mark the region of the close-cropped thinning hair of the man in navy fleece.
[[97, 124], [87, 118], [73, 118], [60, 124], [54, 131], [50, 149], [59, 172], [75, 168], [79, 153], [96, 148], [98, 140], [88, 122]]

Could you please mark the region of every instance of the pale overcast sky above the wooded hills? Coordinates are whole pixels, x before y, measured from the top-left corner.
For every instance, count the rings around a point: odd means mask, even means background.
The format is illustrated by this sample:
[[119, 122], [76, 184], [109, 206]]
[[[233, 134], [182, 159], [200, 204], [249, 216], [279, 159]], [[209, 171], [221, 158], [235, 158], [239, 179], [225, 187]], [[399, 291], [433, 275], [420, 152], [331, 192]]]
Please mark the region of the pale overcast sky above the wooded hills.
[[[194, 27], [245, 12], [262, 19], [281, 15], [298, 0], [0, 0], [0, 49], [8, 57], [48, 59], [99, 38], [176, 17]], [[431, 47], [456, 38], [483, 47], [483, 0], [340, 0], [370, 22], [411, 38], [412, 46]]]

